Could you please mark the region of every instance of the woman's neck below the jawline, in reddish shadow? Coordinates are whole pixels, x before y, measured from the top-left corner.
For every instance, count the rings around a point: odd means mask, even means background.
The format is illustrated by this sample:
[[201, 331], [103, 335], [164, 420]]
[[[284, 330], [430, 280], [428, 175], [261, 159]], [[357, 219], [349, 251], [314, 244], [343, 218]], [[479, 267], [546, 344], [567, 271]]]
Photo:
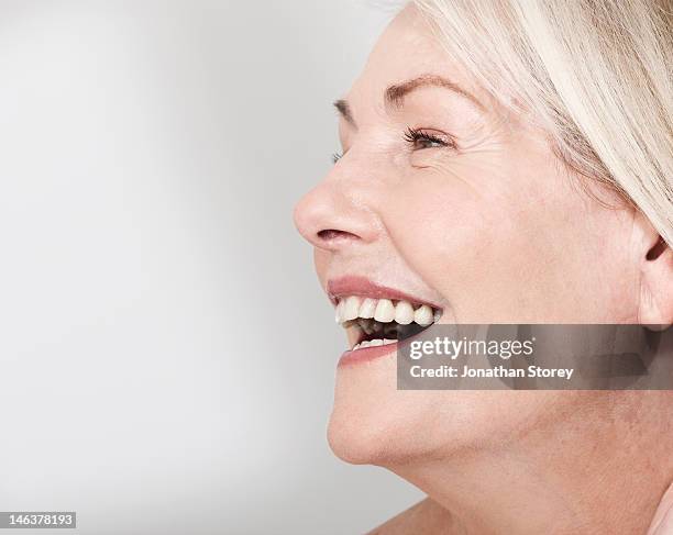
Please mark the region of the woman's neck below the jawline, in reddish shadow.
[[449, 512], [452, 533], [646, 533], [673, 479], [670, 400], [603, 394], [592, 417], [388, 468]]

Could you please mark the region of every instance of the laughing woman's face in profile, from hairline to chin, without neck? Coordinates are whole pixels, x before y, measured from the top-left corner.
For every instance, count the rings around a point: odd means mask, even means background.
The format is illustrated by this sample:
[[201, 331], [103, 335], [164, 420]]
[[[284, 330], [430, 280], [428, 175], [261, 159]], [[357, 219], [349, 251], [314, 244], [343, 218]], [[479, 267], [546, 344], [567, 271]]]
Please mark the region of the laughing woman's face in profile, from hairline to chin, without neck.
[[[638, 322], [633, 213], [587, 194], [415, 8], [391, 22], [338, 108], [343, 156], [296, 209], [333, 302], [390, 289], [441, 309], [439, 323]], [[551, 425], [597, 395], [398, 391], [394, 347], [338, 367], [329, 437], [347, 460], [505, 446], [515, 428]]]

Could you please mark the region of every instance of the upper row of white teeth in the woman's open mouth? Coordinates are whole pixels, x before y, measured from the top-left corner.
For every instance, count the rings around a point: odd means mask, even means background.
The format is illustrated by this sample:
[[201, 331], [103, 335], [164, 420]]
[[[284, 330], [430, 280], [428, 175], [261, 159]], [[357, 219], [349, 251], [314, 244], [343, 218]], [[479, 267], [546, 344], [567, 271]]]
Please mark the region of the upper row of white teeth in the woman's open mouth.
[[397, 301], [394, 304], [389, 299], [361, 298], [349, 296], [341, 299], [336, 305], [334, 319], [336, 323], [345, 323], [357, 317], [374, 319], [377, 322], [388, 323], [395, 321], [400, 325], [416, 322], [427, 326], [439, 317], [439, 311], [433, 312], [427, 304], [417, 305], [416, 310], [408, 301]]

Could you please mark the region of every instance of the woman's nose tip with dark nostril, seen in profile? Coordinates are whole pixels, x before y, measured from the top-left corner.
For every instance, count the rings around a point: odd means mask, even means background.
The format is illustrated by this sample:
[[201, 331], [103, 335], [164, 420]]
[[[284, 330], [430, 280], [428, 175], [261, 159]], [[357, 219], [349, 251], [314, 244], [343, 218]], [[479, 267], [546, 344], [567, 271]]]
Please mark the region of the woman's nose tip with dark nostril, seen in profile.
[[371, 243], [380, 227], [366, 192], [349, 180], [330, 177], [299, 200], [294, 216], [309, 243], [332, 252]]

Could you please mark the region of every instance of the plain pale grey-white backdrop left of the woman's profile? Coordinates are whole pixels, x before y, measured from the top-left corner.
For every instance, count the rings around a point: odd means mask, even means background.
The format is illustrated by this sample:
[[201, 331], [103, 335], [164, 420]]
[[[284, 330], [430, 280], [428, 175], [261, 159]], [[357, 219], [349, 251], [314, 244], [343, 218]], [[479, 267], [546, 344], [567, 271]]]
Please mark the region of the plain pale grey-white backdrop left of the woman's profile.
[[328, 448], [344, 337], [291, 223], [389, 16], [0, 1], [0, 510], [346, 534], [419, 499]]

